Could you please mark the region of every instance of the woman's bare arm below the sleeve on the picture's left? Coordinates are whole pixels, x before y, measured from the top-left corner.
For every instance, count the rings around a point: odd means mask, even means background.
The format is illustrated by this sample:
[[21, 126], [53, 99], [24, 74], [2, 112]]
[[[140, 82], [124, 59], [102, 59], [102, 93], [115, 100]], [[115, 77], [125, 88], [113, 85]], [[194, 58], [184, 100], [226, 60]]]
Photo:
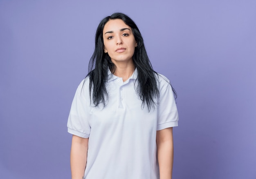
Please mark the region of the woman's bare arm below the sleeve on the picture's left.
[[70, 167], [72, 179], [82, 179], [85, 171], [88, 139], [76, 135], [72, 137]]

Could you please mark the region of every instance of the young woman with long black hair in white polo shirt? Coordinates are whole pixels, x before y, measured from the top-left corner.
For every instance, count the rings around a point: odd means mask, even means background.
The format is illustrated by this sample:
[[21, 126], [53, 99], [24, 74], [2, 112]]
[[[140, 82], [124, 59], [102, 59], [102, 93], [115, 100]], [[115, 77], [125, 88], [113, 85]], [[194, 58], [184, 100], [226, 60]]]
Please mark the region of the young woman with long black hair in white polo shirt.
[[100, 22], [89, 71], [67, 122], [72, 179], [171, 179], [176, 94], [127, 15]]

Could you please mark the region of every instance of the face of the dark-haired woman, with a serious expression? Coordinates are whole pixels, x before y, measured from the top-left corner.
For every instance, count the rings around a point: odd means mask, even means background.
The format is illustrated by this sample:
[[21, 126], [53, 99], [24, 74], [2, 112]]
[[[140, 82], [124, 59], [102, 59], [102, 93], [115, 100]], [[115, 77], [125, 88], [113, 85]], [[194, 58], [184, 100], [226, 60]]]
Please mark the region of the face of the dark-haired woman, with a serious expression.
[[135, 41], [132, 29], [121, 19], [109, 20], [103, 29], [104, 51], [114, 64], [131, 62]]

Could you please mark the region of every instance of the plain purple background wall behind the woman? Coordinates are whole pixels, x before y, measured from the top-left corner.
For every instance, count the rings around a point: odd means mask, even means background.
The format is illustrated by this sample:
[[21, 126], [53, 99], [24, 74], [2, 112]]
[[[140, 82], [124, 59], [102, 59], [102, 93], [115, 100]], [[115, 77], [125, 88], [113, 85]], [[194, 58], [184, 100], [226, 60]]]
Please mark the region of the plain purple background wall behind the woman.
[[116, 11], [178, 93], [173, 178], [256, 179], [255, 0], [0, 0], [0, 178], [70, 178], [71, 102]]

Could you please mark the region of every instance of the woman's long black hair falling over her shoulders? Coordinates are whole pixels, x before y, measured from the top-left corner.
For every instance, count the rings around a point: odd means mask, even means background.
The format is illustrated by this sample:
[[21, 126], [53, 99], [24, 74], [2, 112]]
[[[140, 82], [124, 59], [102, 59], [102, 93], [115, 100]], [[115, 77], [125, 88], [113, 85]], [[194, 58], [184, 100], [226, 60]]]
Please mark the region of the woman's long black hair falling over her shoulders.
[[[95, 34], [95, 49], [89, 62], [89, 73], [86, 77], [90, 79], [90, 96], [94, 106], [103, 104], [105, 107], [108, 102], [108, 91], [106, 82], [108, 81], [108, 71], [115, 71], [115, 64], [112, 63], [108, 53], [104, 53], [103, 29], [109, 20], [121, 19], [126, 25], [131, 27], [137, 47], [133, 54], [132, 60], [137, 69], [136, 92], [141, 99], [141, 107], [145, 104], [148, 111], [157, 105], [157, 97], [159, 97], [159, 89], [157, 88], [157, 73], [153, 70], [149, 61], [144, 41], [141, 33], [131, 18], [124, 13], [113, 13], [104, 18], [99, 23]], [[174, 91], [175, 92], [175, 91]], [[176, 93], [174, 93], [176, 95]]]

